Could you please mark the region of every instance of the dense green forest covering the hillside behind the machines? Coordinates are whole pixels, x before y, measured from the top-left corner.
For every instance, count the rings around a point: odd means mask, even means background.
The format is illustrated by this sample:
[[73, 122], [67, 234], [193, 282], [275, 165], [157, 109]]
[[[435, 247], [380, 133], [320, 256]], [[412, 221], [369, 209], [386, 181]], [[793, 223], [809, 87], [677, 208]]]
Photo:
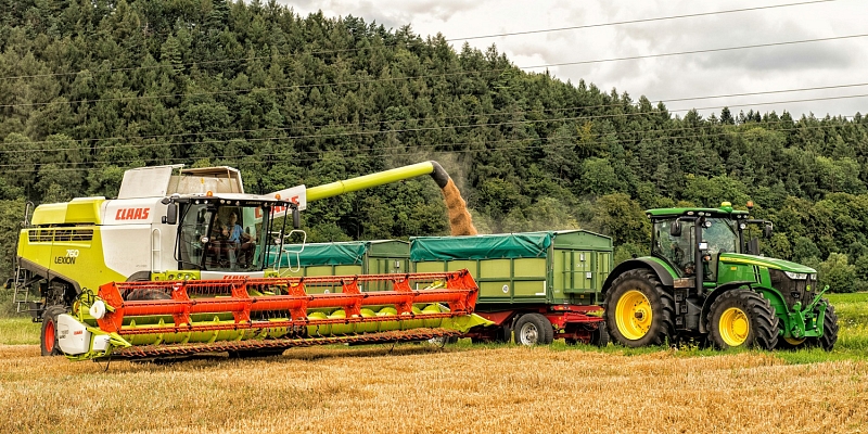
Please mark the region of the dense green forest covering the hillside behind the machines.
[[[0, 140], [4, 276], [28, 202], [115, 196], [126, 168], [227, 165], [268, 193], [436, 159], [481, 233], [583, 228], [623, 260], [648, 253], [644, 209], [752, 200], [766, 255], [868, 290], [859, 113], [675, 115], [273, 0], [0, 0]], [[438, 196], [419, 179], [311, 204], [308, 241], [447, 234]]]

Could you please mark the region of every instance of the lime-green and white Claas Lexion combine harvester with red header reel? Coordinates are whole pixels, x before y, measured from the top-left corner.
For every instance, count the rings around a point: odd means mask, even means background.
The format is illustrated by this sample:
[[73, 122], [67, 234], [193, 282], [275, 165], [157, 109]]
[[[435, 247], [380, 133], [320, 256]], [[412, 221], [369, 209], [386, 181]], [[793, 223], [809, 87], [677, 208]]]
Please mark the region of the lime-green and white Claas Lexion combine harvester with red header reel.
[[42, 355], [74, 360], [456, 336], [486, 322], [473, 315], [467, 271], [294, 278], [279, 268], [290, 238], [304, 237], [307, 202], [422, 175], [450, 183], [436, 162], [270, 195], [244, 193], [230, 167], [128, 170], [115, 200], [44, 204], [25, 218], [14, 301], [42, 321]]

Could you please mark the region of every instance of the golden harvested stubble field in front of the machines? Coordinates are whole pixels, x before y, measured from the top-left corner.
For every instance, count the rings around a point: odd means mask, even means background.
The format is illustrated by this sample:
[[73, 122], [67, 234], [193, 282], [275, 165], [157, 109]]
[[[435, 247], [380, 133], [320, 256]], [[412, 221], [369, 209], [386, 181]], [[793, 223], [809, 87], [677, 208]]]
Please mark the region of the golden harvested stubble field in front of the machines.
[[0, 432], [864, 432], [868, 365], [768, 353], [292, 349], [69, 362], [0, 346]]

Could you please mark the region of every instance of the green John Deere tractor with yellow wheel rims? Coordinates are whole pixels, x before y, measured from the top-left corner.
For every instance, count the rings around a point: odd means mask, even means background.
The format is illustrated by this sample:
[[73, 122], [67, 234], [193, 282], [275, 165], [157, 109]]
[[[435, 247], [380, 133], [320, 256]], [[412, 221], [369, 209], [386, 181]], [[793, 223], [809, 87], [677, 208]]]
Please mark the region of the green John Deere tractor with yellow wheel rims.
[[[752, 204], [749, 203], [749, 209]], [[620, 264], [603, 284], [616, 342], [639, 347], [692, 340], [718, 348], [817, 346], [831, 350], [838, 317], [813, 268], [760, 256], [749, 228], [769, 221], [719, 208], [649, 209], [651, 256]]]

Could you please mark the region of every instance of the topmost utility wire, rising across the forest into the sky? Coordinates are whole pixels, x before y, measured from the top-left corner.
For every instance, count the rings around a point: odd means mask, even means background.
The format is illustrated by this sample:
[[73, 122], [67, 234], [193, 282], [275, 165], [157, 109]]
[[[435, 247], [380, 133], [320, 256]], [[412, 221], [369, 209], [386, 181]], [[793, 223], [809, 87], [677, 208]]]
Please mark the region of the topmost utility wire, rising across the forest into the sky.
[[[597, 28], [597, 27], [610, 27], [610, 26], [621, 26], [621, 25], [628, 25], [628, 24], [639, 24], [639, 23], [652, 23], [659, 21], [671, 21], [671, 20], [680, 20], [680, 18], [692, 18], [692, 17], [700, 17], [700, 16], [712, 16], [712, 15], [725, 15], [730, 13], [740, 13], [740, 12], [751, 12], [751, 11], [761, 11], [761, 10], [769, 10], [769, 9], [779, 9], [779, 8], [790, 8], [790, 7], [800, 7], [805, 4], [814, 4], [814, 3], [828, 3], [833, 2], [837, 0], [815, 0], [815, 1], [803, 1], [803, 2], [795, 2], [795, 3], [783, 3], [783, 4], [773, 4], [767, 7], [756, 7], [756, 8], [743, 8], [743, 9], [731, 9], [725, 11], [716, 11], [716, 12], [701, 12], [694, 14], [684, 14], [684, 15], [672, 15], [672, 16], [660, 16], [654, 18], [642, 18], [642, 20], [629, 20], [629, 21], [621, 21], [621, 22], [612, 22], [612, 23], [598, 23], [598, 24], [589, 24], [589, 25], [582, 25], [582, 26], [572, 26], [572, 27], [559, 27], [559, 28], [548, 28], [548, 29], [536, 29], [536, 30], [525, 30], [525, 31], [512, 31], [512, 33], [502, 33], [496, 35], [483, 35], [483, 36], [470, 36], [464, 38], [455, 38], [455, 39], [446, 39], [447, 42], [455, 42], [461, 40], [474, 40], [474, 39], [486, 39], [486, 38], [496, 38], [496, 37], [509, 37], [509, 36], [524, 36], [524, 35], [533, 35], [533, 34], [542, 34], [542, 33], [552, 33], [552, 31], [565, 31], [565, 30], [578, 30], [584, 28]], [[386, 44], [383, 46], [384, 48], [396, 48], [399, 47], [398, 44]], [[357, 52], [362, 51], [370, 48], [349, 48], [349, 49], [335, 49], [335, 50], [316, 50], [310, 52], [301, 52], [296, 54], [337, 54], [337, 53], [345, 53], [345, 52]], [[286, 54], [289, 55], [289, 54]], [[131, 67], [118, 67], [118, 68], [108, 68], [108, 69], [87, 69], [91, 73], [99, 73], [99, 74], [111, 74], [116, 72], [130, 72], [130, 71], [146, 71], [146, 69], [156, 69], [163, 67], [192, 67], [194, 65], [215, 65], [221, 63], [232, 63], [232, 62], [252, 62], [252, 61], [260, 61], [260, 60], [268, 60], [272, 59], [272, 55], [268, 56], [251, 56], [251, 58], [237, 58], [237, 59], [225, 59], [218, 61], [202, 61], [202, 62], [190, 62], [177, 65], [153, 65], [153, 66], [131, 66]], [[50, 74], [31, 74], [31, 75], [18, 75], [18, 76], [8, 76], [8, 77], [0, 77], [0, 80], [11, 80], [11, 79], [22, 79], [22, 78], [42, 78], [42, 77], [64, 77], [64, 76], [73, 76], [81, 73], [84, 71], [78, 72], [69, 72], [69, 73], [50, 73]]]

